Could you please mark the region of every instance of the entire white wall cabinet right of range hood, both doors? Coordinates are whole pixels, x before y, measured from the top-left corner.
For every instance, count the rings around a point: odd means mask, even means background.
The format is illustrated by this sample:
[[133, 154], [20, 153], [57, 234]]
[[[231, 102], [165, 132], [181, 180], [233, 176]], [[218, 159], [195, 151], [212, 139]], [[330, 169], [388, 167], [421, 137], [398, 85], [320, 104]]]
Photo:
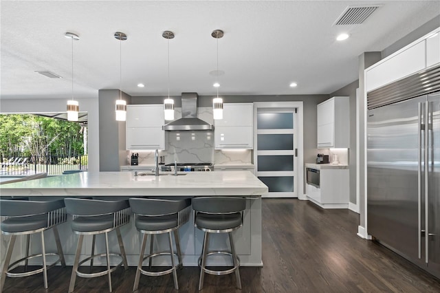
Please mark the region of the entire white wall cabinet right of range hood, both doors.
[[214, 120], [214, 149], [252, 149], [252, 103], [223, 104], [223, 119]]

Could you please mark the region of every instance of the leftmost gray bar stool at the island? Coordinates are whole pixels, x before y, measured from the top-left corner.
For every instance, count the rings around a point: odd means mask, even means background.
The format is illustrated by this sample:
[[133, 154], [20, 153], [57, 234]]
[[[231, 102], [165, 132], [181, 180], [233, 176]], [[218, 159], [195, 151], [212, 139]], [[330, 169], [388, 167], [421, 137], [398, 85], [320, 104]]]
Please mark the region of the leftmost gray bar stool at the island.
[[[56, 263], [61, 262], [66, 265], [64, 260], [63, 248], [61, 247], [60, 237], [56, 226], [67, 221], [67, 214], [63, 199], [50, 202], [35, 202], [25, 199], [1, 199], [0, 216], [4, 217], [1, 222], [1, 233], [10, 235], [8, 250], [5, 254], [5, 262], [1, 271], [0, 292], [3, 291], [6, 276], [21, 277], [32, 276], [43, 272], [44, 287], [47, 289], [47, 270]], [[57, 253], [47, 253], [45, 251], [44, 231], [52, 228], [55, 235]], [[41, 235], [41, 253], [29, 255], [30, 235], [40, 233]], [[19, 235], [26, 235], [26, 256], [10, 264], [14, 243]], [[47, 264], [47, 255], [56, 255], [58, 258], [52, 264]], [[42, 268], [28, 271], [28, 260], [36, 257], [43, 258]], [[12, 272], [21, 263], [25, 262], [25, 272]]]

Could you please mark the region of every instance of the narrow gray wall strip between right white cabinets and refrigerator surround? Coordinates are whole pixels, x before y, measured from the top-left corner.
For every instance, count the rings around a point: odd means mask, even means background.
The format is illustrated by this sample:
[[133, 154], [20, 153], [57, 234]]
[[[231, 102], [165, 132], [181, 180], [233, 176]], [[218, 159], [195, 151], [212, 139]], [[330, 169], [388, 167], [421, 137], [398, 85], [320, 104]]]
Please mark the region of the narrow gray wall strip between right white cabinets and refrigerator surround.
[[359, 87], [359, 80], [353, 81], [349, 85], [342, 87], [330, 94], [330, 96], [349, 96], [350, 97], [350, 149], [349, 149], [349, 169], [350, 169], [350, 202], [356, 202], [356, 89]]

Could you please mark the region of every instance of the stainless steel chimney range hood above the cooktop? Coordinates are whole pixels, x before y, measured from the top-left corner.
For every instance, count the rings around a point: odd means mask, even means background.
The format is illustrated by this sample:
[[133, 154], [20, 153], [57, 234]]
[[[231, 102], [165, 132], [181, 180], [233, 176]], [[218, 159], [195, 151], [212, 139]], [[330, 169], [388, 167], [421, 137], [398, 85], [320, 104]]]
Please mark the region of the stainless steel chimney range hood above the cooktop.
[[181, 118], [165, 124], [167, 131], [212, 130], [212, 124], [197, 118], [197, 93], [181, 93]]

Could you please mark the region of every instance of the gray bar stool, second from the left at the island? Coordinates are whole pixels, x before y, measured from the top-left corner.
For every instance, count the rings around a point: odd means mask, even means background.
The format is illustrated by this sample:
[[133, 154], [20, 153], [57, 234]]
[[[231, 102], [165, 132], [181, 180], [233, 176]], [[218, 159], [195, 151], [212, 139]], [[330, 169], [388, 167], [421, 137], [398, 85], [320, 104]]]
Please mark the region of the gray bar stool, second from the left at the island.
[[[128, 200], [104, 201], [98, 199], [80, 199], [66, 198], [64, 199], [67, 213], [73, 215], [72, 230], [78, 234], [78, 246], [76, 246], [76, 254], [72, 276], [70, 278], [69, 292], [74, 292], [76, 276], [83, 278], [94, 278], [96, 276], [104, 276], [107, 274], [109, 278], [109, 290], [111, 289], [111, 272], [114, 272], [122, 263], [125, 270], [128, 270], [124, 243], [120, 232], [120, 226], [130, 221], [130, 206]], [[118, 237], [120, 254], [109, 252], [109, 236], [108, 233], [115, 230]], [[95, 254], [95, 238], [98, 234], [105, 235], [105, 253]], [[93, 235], [91, 244], [91, 255], [80, 261], [81, 247], [85, 235]], [[120, 263], [110, 268], [110, 256], [121, 257]], [[79, 267], [83, 263], [90, 261], [90, 269], [94, 265], [94, 258], [106, 257], [107, 270], [101, 272], [80, 272]]]

